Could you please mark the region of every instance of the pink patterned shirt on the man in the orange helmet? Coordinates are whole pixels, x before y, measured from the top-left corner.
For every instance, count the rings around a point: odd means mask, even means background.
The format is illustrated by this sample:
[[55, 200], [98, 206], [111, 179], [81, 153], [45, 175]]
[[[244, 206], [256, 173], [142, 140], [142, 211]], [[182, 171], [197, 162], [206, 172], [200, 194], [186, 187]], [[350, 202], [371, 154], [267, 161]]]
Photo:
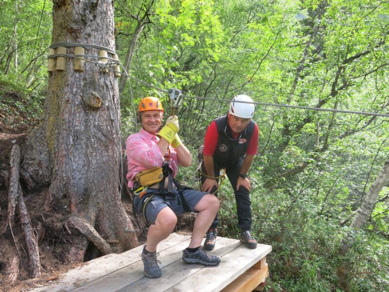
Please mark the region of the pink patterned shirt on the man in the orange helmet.
[[[159, 137], [141, 129], [139, 133], [132, 134], [125, 142], [125, 149], [127, 152], [127, 180], [128, 187], [132, 188], [134, 182], [132, 181], [135, 175], [145, 169], [162, 166], [164, 157], [157, 145]], [[178, 157], [176, 150], [169, 145], [171, 158], [169, 160], [169, 167], [172, 169], [173, 177], [177, 175]]]

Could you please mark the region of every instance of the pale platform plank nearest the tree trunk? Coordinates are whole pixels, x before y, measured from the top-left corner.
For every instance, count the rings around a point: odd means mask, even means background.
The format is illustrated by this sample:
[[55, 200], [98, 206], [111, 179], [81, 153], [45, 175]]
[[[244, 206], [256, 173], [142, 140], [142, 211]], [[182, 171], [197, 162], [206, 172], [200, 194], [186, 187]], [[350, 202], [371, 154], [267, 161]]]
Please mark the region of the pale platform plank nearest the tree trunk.
[[[159, 243], [159, 250], [169, 248], [171, 245], [176, 245], [189, 240], [190, 236], [182, 236], [171, 234], [167, 239]], [[69, 270], [66, 274], [61, 275], [57, 280], [44, 287], [35, 288], [32, 292], [63, 292], [71, 291], [77, 287], [86, 285], [96, 279], [99, 279], [106, 274], [111, 274], [128, 265], [139, 262], [141, 260], [141, 251], [143, 246], [138, 246], [132, 250], [122, 254], [109, 254], [101, 256], [86, 262], [85, 265]], [[143, 271], [143, 268], [141, 269]]]

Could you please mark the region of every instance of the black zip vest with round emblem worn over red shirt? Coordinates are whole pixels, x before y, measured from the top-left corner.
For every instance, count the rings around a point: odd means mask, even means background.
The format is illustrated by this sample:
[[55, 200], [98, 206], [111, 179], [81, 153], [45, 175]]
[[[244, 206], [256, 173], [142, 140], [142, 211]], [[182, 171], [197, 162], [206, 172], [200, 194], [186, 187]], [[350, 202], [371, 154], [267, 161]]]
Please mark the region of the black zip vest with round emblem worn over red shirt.
[[239, 133], [236, 139], [233, 139], [227, 115], [218, 117], [214, 121], [217, 125], [219, 140], [217, 141], [215, 153], [212, 156], [213, 161], [220, 167], [229, 167], [239, 158], [245, 156], [248, 143], [254, 132], [255, 122], [250, 120], [245, 130]]

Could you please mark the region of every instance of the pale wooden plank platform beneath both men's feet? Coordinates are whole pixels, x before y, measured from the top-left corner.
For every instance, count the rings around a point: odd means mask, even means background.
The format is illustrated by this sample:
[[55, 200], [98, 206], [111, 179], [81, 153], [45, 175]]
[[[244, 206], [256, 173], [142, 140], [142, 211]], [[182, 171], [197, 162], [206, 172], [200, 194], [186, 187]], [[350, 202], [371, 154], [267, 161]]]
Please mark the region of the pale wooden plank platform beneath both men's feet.
[[162, 277], [150, 279], [143, 274], [142, 246], [122, 254], [109, 254], [68, 271], [57, 280], [34, 292], [251, 292], [268, 274], [266, 255], [271, 246], [258, 244], [248, 249], [236, 239], [217, 237], [211, 255], [221, 256], [217, 267], [186, 264], [182, 250], [190, 236], [172, 234], [158, 246]]

